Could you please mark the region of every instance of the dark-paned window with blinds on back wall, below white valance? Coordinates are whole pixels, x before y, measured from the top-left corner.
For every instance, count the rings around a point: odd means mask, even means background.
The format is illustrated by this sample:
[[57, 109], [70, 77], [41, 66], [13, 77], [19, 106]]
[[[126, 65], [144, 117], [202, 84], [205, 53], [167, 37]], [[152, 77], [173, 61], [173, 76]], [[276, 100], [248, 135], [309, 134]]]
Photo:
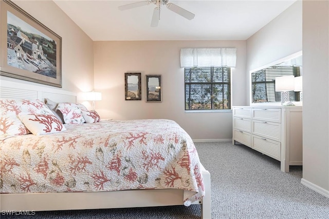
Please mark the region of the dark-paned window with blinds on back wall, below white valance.
[[185, 68], [185, 110], [231, 109], [231, 69]]

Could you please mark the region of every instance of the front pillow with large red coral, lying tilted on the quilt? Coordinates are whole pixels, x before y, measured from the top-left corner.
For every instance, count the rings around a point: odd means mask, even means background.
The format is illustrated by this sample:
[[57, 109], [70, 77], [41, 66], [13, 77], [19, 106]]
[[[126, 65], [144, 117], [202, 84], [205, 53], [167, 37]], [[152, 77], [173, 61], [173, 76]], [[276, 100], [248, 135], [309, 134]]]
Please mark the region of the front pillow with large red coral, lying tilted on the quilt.
[[20, 119], [34, 135], [66, 131], [63, 123], [51, 114], [25, 114], [20, 115]]

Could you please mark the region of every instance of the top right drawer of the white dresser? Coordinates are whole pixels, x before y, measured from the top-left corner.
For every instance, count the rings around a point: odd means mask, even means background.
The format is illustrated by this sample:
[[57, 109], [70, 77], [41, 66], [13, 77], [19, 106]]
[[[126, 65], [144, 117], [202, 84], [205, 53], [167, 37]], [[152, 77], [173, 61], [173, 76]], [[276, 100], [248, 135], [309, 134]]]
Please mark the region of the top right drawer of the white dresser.
[[281, 123], [281, 109], [278, 108], [253, 108], [252, 119], [267, 122]]

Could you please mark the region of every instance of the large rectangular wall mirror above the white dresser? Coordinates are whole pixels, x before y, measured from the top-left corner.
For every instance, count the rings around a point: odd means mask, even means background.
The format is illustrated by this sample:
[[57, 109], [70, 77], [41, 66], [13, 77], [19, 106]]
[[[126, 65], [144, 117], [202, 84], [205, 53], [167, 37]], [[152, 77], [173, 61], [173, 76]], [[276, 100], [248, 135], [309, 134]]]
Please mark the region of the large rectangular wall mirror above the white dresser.
[[[251, 104], [280, 103], [281, 91], [276, 90], [276, 77], [302, 76], [302, 54], [296, 53], [251, 73]], [[294, 85], [293, 85], [294, 87]], [[300, 90], [289, 89], [289, 101], [300, 101]]]

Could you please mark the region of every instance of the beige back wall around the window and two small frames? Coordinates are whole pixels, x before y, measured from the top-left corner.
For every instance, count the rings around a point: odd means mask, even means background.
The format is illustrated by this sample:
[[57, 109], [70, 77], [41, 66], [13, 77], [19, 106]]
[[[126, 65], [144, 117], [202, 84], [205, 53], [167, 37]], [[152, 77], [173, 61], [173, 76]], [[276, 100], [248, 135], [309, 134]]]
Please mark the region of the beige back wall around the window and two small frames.
[[[176, 121], [194, 140], [232, 138], [232, 112], [185, 112], [184, 68], [180, 48], [236, 47], [232, 70], [233, 105], [244, 105], [245, 41], [113, 41], [94, 43], [95, 90], [102, 92], [96, 108], [102, 117], [120, 120], [168, 118]], [[141, 72], [142, 100], [125, 101], [124, 72]], [[161, 74], [162, 102], [145, 102], [145, 74]]]

